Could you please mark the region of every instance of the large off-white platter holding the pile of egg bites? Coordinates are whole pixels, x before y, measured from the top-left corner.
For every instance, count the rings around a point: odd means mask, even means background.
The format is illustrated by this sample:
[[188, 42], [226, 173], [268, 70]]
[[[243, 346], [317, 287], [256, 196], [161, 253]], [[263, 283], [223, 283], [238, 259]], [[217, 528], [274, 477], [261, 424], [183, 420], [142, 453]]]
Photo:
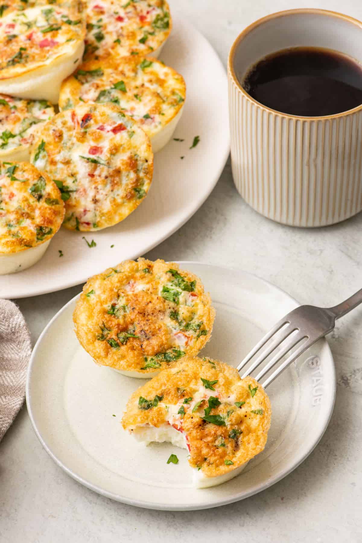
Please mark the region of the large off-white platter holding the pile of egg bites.
[[[226, 73], [204, 36], [177, 14], [173, 19], [161, 60], [186, 81], [184, 111], [173, 136], [183, 141], [172, 138], [156, 153], [147, 198], [128, 218], [99, 232], [61, 228], [35, 266], [0, 276], [0, 298], [25, 298], [79, 285], [115, 262], [143, 255], [180, 228], [211, 193], [230, 151]], [[190, 149], [195, 136], [200, 142]], [[89, 248], [83, 236], [97, 246]]]

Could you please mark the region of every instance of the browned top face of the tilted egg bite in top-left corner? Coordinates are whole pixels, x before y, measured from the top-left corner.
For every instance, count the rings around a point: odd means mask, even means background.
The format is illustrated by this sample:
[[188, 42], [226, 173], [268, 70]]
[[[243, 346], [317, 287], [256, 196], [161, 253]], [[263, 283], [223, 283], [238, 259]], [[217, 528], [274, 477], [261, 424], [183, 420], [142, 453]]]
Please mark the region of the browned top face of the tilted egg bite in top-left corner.
[[0, 79], [71, 54], [84, 36], [85, 19], [76, 9], [49, 4], [8, 12], [0, 26]]

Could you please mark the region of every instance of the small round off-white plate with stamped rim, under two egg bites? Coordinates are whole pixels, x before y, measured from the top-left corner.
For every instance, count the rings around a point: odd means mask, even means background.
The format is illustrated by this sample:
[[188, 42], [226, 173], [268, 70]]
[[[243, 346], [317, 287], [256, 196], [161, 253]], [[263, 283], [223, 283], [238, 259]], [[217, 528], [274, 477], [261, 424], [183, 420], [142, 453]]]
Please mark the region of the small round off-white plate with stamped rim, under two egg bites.
[[[298, 304], [243, 271], [180, 262], [200, 276], [217, 311], [202, 355], [236, 366], [263, 334]], [[143, 380], [97, 366], [73, 331], [78, 296], [55, 315], [31, 356], [27, 406], [43, 447], [68, 475], [113, 500], [151, 509], [187, 510], [242, 500], [279, 481], [314, 449], [326, 430], [335, 371], [326, 340], [268, 387], [271, 428], [265, 450], [238, 477], [208, 489], [192, 487], [187, 452], [170, 444], [145, 447], [120, 419]], [[171, 453], [179, 464], [167, 464]]]

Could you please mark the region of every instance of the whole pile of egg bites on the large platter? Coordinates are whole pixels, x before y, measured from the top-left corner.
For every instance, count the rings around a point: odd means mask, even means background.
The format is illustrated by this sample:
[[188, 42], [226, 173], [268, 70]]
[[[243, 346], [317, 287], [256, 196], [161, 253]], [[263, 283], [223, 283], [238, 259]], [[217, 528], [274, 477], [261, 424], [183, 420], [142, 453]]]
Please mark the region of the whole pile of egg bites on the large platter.
[[186, 99], [157, 60], [171, 30], [164, 0], [0, 6], [0, 275], [145, 199]]

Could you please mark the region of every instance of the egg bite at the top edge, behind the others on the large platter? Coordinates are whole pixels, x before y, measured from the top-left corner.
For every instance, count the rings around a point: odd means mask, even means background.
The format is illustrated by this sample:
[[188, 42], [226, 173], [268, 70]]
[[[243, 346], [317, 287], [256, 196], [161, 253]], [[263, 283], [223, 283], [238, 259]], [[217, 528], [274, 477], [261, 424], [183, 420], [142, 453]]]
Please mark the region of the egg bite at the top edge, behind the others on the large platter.
[[84, 59], [160, 54], [172, 29], [165, 0], [88, 0]]

